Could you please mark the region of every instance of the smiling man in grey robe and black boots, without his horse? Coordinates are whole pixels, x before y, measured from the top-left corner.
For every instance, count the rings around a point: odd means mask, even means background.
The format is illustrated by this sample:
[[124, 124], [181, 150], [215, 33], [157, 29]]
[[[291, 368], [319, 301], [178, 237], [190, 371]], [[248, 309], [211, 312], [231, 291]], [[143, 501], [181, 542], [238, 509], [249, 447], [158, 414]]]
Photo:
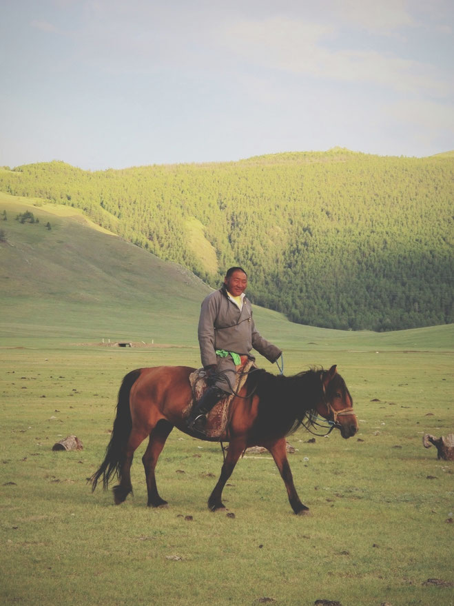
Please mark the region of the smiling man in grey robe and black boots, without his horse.
[[206, 414], [227, 394], [234, 393], [236, 365], [240, 356], [254, 347], [270, 362], [276, 362], [281, 350], [260, 336], [252, 319], [251, 302], [245, 296], [247, 274], [241, 267], [230, 267], [219, 290], [202, 302], [198, 321], [200, 356], [207, 373], [208, 388], [189, 414], [187, 425], [203, 432]]

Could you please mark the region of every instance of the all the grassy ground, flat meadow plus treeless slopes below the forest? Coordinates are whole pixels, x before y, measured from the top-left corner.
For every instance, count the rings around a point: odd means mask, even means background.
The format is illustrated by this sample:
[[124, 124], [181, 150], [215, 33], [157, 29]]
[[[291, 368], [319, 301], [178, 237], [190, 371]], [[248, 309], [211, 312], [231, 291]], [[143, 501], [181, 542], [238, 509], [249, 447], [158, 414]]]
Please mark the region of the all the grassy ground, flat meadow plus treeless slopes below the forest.
[[[454, 431], [453, 325], [343, 332], [256, 308], [260, 332], [285, 352], [285, 374], [337, 364], [358, 414], [360, 432], [349, 440], [289, 436], [312, 515], [293, 515], [266, 453], [240, 460], [224, 492], [228, 512], [209, 512], [220, 445], [178, 430], [157, 467], [169, 506], [146, 507], [144, 443], [134, 495], [116, 507], [86, 479], [110, 439], [118, 387], [136, 367], [199, 365], [208, 288], [82, 215], [2, 196], [2, 603], [454, 604], [454, 467], [422, 446], [426, 432]], [[14, 221], [26, 208], [37, 225]], [[134, 347], [115, 347], [119, 340]], [[70, 434], [83, 450], [52, 451]]]

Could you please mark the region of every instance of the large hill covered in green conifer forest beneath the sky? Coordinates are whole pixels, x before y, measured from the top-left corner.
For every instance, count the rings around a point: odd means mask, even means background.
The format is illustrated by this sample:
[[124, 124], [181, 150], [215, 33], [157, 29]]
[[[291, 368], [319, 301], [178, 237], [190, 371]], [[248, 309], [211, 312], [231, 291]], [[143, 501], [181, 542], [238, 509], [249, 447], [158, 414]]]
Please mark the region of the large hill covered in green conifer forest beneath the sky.
[[396, 330], [452, 323], [452, 153], [335, 148], [230, 163], [0, 170], [0, 190], [82, 208], [212, 286], [230, 265], [291, 321]]

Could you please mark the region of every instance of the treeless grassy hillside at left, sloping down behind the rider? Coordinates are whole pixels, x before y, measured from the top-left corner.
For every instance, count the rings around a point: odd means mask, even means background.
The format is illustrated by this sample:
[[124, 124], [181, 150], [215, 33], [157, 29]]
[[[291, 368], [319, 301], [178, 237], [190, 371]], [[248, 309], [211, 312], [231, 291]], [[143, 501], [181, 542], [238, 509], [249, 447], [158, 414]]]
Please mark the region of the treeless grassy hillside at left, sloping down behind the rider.
[[[100, 231], [80, 210], [37, 207], [6, 194], [0, 208], [8, 218], [0, 244], [3, 336], [163, 343], [168, 323], [183, 324], [183, 309], [198, 316], [207, 285], [184, 267]], [[14, 220], [27, 212], [34, 223]], [[188, 339], [184, 331], [181, 342]]]

